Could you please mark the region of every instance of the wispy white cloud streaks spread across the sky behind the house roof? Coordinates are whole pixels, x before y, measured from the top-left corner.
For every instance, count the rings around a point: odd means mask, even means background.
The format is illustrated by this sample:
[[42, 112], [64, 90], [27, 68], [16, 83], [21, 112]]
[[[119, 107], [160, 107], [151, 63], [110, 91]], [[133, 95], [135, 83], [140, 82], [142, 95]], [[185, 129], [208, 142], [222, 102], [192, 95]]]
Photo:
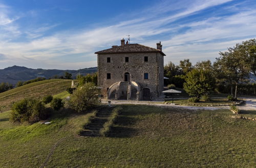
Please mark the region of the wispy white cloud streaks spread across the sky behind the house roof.
[[[115, 44], [119, 45], [120, 38], [127, 34], [131, 35], [132, 42], [152, 47], [155, 47], [157, 42], [155, 40], [164, 39], [162, 40], [163, 51], [167, 55], [165, 62], [177, 63], [185, 58], [196, 62], [206, 59], [214, 60], [218, 57], [219, 50], [224, 50], [241, 40], [255, 36], [256, 19], [254, 16], [256, 12], [253, 7], [243, 11], [234, 11], [234, 7], [230, 8], [234, 13], [230, 16], [211, 15], [206, 19], [189, 20], [187, 17], [191, 15], [228, 3], [230, 0], [185, 2], [170, 3], [164, 1], [155, 6], [150, 14], [146, 12], [149, 9], [146, 9], [134, 15], [134, 18], [130, 20], [120, 20], [113, 25], [96, 26], [91, 30], [86, 28], [65, 30], [51, 36], [45, 36], [45, 33], [58, 24], [44, 24], [21, 32], [18, 26], [14, 24], [15, 20], [8, 16], [8, 12], [4, 12], [3, 16], [5, 15], [5, 18], [12, 20], [7, 23], [8, 28], [6, 27], [9, 29], [9, 33], [16, 32], [16, 36], [25, 35], [27, 39], [23, 42], [11, 42], [3, 40], [6, 37], [0, 35], [0, 39], [2, 39], [0, 54], [5, 55], [5, 59], [0, 60], [0, 63], [4, 65], [16, 62], [23, 65], [33, 64], [40, 68], [54, 67], [59, 69], [92, 67], [97, 65], [95, 51]], [[181, 4], [185, 5], [181, 6]], [[170, 8], [172, 6], [177, 7]], [[160, 9], [161, 12], [159, 12]], [[185, 24], [179, 22], [182, 19], [187, 19]], [[0, 34], [4, 31], [7, 30], [4, 30], [4, 27], [0, 25]], [[78, 59], [76, 54], [84, 56]], [[65, 61], [70, 57], [73, 57], [74, 60], [77, 59], [77, 62], [68, 63]], [[92, 59], [93, 57], [95, 59]]]

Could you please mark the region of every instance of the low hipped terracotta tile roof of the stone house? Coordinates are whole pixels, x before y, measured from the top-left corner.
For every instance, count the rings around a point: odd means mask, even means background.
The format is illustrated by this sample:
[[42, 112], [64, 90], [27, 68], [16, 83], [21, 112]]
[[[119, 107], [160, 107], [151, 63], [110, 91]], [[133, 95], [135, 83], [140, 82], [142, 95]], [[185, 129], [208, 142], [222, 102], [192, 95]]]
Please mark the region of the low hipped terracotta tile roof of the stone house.
[[141, 44], [125, 44], [120, 46], [114, 46], [112, 48], [97, 51], [95, 53], [104, 54], [104, 53], [135, 53], [135, 52], [160, 52], [162, 55], [165, 55], [160, 49], [147, 47]]

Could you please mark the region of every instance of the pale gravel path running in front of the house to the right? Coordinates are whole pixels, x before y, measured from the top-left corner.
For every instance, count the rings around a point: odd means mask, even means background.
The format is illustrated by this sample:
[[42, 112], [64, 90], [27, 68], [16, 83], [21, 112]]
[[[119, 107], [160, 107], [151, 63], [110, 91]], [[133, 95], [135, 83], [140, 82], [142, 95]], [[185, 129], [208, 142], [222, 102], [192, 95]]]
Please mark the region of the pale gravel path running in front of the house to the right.
[[[239, 106], [239, 109], [242, 110], [256, 110], [256, 98], [245, 98], [241, 97], [246, 101], [244, 105]], [[108, 101], [102, 101], [102, 103], [108, 103]], [[208, 109], [208, 110], [216, 110], [216, 109], [229, 109], [229, 106], [188, 106], [188, 105], [172, 105], [172, 104], [164, 104], [160, 102], [149, 102], [149, 101], [116, 101], [111, 100], [111, 104], [143, 104], [143, 105], [154, 105], [154, 106], [170, 106], [170, 107], [179, 107], [185, 109]]]

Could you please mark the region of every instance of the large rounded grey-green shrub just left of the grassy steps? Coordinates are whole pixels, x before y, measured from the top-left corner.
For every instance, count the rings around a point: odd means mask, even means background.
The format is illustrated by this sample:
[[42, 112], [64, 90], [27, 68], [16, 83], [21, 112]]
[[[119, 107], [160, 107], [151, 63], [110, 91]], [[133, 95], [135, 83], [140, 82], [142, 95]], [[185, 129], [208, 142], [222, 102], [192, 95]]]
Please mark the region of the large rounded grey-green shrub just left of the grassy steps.
[[100, 103], [98, 88], [92, 82], [86, 83], [74, 91], [69, 103], [78, 113], [92, 108]]

